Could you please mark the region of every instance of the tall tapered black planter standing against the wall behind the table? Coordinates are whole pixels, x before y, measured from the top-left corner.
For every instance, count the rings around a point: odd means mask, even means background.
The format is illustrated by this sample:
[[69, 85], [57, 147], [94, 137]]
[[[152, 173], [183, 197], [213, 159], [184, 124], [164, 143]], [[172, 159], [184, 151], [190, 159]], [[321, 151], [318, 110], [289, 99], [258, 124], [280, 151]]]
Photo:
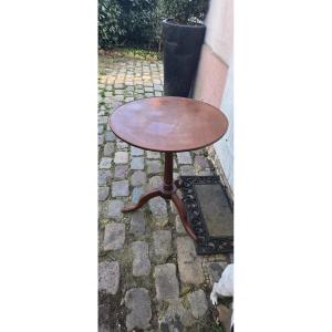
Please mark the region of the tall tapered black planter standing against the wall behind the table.
[[204, 24], [178, 24], [163, 21], [164, 94], [189, 95], [205, 37]]

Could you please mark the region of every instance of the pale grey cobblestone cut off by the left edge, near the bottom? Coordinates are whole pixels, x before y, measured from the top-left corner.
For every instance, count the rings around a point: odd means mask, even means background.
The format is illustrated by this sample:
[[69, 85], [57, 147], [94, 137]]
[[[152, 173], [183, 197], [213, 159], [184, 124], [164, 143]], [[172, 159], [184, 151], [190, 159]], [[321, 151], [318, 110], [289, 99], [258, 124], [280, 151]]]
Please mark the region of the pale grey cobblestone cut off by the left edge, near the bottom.
[[98, 290], [115, 295], [120, 283], [120, 264], [117, 261], [98, 263]]

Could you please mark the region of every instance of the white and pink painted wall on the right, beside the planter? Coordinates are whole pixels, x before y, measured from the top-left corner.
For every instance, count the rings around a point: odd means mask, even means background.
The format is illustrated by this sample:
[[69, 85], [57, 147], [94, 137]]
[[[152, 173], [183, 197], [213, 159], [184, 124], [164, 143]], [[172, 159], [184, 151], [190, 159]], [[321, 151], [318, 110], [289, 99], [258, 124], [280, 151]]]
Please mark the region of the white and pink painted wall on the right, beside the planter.
[[205, 21], [207, 27], [195, 81], [194, 96], [226, 114], [227, 134], [216, 144], [224, 181], [232, 195], [234, 188], [234, 94], [232, 94], [232, 0], [210, 0]]

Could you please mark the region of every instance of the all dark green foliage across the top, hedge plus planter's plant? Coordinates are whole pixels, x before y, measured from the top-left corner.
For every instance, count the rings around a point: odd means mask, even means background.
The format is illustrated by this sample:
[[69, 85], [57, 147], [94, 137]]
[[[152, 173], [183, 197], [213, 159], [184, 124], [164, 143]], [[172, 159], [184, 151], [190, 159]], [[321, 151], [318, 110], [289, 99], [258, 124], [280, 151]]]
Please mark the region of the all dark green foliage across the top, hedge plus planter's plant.
[[98, 0], [98, 44], [155, 49], [162, 19], [203, 21], [208, 0]]

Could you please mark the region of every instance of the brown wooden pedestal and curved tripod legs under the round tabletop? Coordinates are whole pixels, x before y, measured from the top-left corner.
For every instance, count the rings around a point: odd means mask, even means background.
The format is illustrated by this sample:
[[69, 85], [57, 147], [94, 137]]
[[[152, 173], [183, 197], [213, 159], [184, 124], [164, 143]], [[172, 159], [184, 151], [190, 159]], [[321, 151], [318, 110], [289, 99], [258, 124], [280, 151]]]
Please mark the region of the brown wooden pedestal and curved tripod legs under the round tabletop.
[[180, 187], [180, 181], [173, 180], [173, 153], [165, 153], [165, 173], [164, 173], [164, 184], [157, 189], [153, 189], [142, 195], [137, 204], [128, 205], [123, 208], [123, 212], [132, 212], [142, 208], [149, 199], [154, 197], [163, 197], [165, 199], [170, 199], [179, 214], [180, 220], [184, 225], [185, 230], [189, 237], [197, 241], [197, 236], [193, 231], [189, 221], [187, 219], [187, 212], [184, 203], [176, 194], [176, 190]]

